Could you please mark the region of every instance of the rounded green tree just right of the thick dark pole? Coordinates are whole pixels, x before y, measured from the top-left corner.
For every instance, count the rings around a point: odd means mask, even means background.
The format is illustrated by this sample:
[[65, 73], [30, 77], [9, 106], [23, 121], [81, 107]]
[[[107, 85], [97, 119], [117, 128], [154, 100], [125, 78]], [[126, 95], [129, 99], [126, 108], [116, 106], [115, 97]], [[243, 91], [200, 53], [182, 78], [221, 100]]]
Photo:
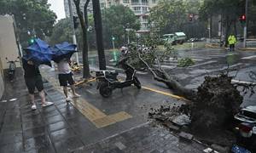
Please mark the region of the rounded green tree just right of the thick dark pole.
[[[120, 46], [127, 42], [125, 29], [140, 29], [140, 22], [133, 11], [124, 5], [111, 6], [102, 11], [104, 46], [112, 47], [112, 37], [115, 37], [115, 45]], [[133, 35], [135, 35], [133, 33]], [[131, 36], [132, 37], [132, 36]], [[131, 40], [132, 41], [132, 40]]]

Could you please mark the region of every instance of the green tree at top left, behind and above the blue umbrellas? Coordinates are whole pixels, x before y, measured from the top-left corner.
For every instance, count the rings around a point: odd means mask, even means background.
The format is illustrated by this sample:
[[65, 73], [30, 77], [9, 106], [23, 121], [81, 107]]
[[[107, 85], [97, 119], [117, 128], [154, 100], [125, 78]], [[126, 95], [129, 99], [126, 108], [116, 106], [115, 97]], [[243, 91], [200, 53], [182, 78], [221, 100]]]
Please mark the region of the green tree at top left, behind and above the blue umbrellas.
[[21, 44], [25, 45], [31, 35], [44, 38], [50, 36], [56, 15], [49, 10], [47, 0], [3, 0], [0, 2], [0, 14], [13, 14], [15, 16]]

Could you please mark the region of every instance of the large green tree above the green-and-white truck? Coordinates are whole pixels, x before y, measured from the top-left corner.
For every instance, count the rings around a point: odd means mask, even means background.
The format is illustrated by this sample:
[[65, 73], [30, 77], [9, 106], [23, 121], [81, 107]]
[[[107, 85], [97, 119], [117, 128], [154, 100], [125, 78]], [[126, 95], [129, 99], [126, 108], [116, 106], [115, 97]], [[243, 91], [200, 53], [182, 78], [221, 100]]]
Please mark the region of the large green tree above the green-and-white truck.
[[[160, 31], [160, 34], [183, 31], [187, 37], [205, 37], [207, 24], [194, 18], [198, 15], [201, 2], [160, 0], [159, 3], [150, 10], [149, 23], [152, 30]], [[193, 19], [189, 20], [189, 14], [193, 14]]]

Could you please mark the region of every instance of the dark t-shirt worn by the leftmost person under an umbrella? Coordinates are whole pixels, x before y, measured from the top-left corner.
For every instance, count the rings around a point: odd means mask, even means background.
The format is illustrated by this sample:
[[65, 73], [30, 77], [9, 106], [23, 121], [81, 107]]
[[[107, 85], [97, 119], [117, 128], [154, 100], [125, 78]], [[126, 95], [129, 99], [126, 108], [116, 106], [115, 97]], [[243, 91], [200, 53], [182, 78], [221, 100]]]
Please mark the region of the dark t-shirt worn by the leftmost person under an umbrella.
[[24, 77], [37, 77], [40, 76], [40, 71], [38, 66], [35, 65], [29, 65], [27, 64], [27, 60], [26, 59], [22, 59], [22, 65], [23, 65], [23, 69], [24, 69]]

